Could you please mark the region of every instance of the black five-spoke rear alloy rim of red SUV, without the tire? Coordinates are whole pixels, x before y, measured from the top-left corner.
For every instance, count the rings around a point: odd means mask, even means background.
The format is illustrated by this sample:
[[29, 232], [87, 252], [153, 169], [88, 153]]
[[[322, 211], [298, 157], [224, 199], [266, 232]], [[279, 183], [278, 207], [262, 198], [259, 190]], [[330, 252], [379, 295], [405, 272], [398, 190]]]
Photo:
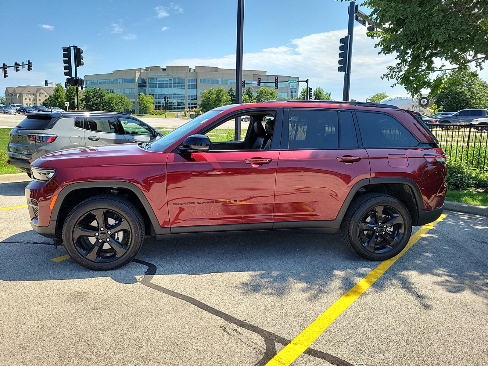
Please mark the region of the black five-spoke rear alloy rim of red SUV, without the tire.
[[389, 206], [373, 207], [358, 226], [359, 240], [371, 253], [389, 252], [402, 241], [404, 232], [402, 216]]

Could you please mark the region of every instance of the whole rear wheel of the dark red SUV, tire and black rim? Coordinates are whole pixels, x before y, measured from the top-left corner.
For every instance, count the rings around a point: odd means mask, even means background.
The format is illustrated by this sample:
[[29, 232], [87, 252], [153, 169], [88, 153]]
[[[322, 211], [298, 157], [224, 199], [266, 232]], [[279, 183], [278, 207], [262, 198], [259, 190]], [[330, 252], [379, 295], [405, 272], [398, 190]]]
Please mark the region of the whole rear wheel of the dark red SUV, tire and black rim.
[[396, 198], [368, 193], [351, 203], [341, 233], [361, 257], [384, 261], [405, 248], [412, 233], [412, 219], [405, 205]]

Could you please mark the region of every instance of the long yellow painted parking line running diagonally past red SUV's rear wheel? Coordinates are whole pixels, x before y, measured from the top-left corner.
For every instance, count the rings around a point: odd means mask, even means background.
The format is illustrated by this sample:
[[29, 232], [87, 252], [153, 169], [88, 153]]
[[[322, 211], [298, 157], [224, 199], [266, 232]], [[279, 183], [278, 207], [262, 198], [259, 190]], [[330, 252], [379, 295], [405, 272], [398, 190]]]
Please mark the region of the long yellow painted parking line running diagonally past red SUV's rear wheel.
[[417, 243], [427, 231], [435, 224], [443, 220], [447, 215], [443, 214], [433, 223], [422, 226], [415, 234], [410, 237], [405, 249], [396, 257], [380, 263], [375, 269], [346, 292], [339, 300], [331, 305], [325, 312], [308, 325], [302, 333], [295, 337], [278, 354], [273, 357], [265, 366], [289, 366], [296, 360], [319, 336], [337, 319], [354, 301], [361, 296], [385, 271], [391, 267], [405, 252]]

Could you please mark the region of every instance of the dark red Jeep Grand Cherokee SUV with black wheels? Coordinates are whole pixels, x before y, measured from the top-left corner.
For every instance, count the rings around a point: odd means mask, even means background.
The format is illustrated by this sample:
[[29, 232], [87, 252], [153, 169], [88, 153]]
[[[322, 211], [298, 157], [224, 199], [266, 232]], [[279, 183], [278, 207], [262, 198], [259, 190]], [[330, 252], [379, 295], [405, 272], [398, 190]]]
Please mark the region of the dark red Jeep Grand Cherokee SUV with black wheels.
[[45, 155], [25, 194], [34, 230], [92, 269], [126, 264], [146, 235], [264, 230], [341, 229], [381, 261], [441, 215], [446, 169], [412, 112], [273, 101], [211, 110], [155, 142]]

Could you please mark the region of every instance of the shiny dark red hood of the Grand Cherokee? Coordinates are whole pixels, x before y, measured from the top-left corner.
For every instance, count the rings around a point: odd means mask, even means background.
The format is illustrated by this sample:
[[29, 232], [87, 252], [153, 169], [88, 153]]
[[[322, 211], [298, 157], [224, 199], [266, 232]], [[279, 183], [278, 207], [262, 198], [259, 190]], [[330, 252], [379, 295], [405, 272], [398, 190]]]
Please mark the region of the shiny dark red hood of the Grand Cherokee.
[[[137, 144], [86, 146], [46, 154], [35, 160], [32, 166], [42, 168], [113, 166], [163, 161], [161, 152], [150, 152]], [[166, 154], [164, 154], [166, 155]]]

